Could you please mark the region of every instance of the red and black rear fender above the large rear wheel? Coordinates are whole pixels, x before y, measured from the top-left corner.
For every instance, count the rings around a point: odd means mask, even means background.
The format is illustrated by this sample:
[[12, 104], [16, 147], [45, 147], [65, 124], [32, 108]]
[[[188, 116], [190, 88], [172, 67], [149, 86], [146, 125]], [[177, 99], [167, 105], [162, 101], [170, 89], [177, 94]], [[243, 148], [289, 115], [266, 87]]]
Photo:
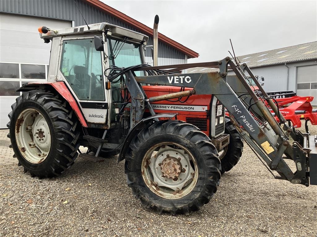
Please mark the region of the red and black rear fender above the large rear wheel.
[[83, 127], [88, 127], [87, 122], [79, 108], [77, 101], [75, 100], [74, 96], [70, 93], [69, 89], [65, 85], [64, 82], [29, 82], [23, 84], [16, 91], [30, 91], [30, 90], [38, 90], [38, 89], [54, 89], [58, 94], [60, 94], [72, 107], [74, 110], [79, 122]]

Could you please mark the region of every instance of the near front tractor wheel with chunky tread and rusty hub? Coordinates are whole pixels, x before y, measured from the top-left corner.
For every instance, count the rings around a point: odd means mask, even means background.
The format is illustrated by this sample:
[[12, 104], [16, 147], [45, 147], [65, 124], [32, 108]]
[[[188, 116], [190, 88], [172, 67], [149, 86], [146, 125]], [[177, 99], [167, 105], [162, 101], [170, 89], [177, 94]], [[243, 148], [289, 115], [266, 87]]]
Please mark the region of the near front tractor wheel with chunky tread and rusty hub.
[[221, 164], [210, 138], [194, 125], [162, 120], [146, 126], [130, 143], [128, 186], [158, 214], [189, 215], [217, 191]]

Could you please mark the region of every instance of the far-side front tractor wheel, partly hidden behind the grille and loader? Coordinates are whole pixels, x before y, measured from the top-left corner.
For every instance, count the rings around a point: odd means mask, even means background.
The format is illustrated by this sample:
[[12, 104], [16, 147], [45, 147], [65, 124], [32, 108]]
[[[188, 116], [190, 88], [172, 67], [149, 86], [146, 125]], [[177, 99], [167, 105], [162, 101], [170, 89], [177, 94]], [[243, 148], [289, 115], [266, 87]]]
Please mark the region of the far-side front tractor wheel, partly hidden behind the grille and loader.
[[230, 143], [219, 152], [221, 174], [228, 172], [238, 163], [243, 151], [242, 137], [228, 118], [225, 118], [224, 133], [229, 134]]

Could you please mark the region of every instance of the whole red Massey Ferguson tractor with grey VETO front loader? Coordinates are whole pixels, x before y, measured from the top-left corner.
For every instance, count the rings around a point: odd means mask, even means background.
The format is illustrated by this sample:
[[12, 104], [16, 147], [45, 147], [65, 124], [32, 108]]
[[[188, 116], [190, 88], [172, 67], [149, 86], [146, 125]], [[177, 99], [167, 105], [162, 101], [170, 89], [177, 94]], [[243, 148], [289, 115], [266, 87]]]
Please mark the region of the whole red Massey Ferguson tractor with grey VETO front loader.
[[[52, 44], [48, 81], [23, 84], [8, 123], [15, 157], [32, 176], [60, 175], [78, 155], [119, 154], [146, 207], [188, 214], [210, 201], [244, 140], [276, 179], [317, 184], [316, 136], [293, 132], [246, 64], [150, 66], [148, 37], [109, 23], [39, 31]], [[220, 72], [173, 73], [197, 66]]]

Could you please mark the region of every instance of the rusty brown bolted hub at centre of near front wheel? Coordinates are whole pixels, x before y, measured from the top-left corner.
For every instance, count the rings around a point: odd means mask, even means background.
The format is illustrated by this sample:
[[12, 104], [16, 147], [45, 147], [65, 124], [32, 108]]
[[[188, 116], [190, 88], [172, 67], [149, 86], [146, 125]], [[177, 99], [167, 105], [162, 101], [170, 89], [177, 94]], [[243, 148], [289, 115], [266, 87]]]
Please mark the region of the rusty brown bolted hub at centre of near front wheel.
[[182, 164], [175, 157], [166, 157], [159, 166], [163, 176], [168, 179], [175, 179], [182, 172]]

